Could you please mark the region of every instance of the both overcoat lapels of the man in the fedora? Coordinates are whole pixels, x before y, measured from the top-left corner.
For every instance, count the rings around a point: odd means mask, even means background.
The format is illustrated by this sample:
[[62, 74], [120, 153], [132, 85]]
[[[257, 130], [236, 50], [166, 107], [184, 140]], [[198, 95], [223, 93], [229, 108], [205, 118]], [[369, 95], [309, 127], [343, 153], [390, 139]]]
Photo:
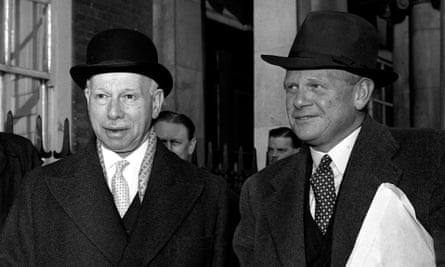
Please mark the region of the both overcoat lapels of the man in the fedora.
[[[377, 188], [383, 182], [398, 184], [401, 170], [392, 158], [399, 148], [389, 129], [366, 117], [346, 172], [335, 214], [332, 265], [344, 266]], [[264, 213], [284, 266], [304, 266], [304, 188], [311, 170], [309, 148], [283, 163], [266, 169], [270, 179], [265, 193]]]

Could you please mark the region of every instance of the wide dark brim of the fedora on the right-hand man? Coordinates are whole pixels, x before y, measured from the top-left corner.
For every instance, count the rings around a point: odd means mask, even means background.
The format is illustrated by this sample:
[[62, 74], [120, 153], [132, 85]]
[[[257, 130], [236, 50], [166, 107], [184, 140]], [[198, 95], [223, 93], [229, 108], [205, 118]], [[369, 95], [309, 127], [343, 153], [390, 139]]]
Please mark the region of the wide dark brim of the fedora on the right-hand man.
[[280, 66], [286, 70], [340, 69], [349, 71], [372, 79], [376, 87], [391, 84], [398, 78], [397, 73], [392, 71], [349, 67], [328, 58], [280, 57], [274, 55], [261, 55], [261, 58], [267, 63]]

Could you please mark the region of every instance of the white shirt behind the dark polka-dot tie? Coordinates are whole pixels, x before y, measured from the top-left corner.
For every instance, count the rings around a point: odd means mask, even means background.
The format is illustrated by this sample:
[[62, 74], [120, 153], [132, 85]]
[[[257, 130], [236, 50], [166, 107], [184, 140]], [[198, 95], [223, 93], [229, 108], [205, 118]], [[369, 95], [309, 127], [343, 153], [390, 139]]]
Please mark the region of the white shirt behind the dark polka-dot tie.
[[[310, 147], [311, 156], [312, 156], [312, 174], [320, 164], [321, 158], [328, 154], [331, 157], [332, 162], [330, 164], [332, 171], [334, 172], [334, 186], [335, 186], [335, 194], [338, 195], [338, 191], [340, 189], [341, 182], [343, 181], [343, 174], [345, 173], [346, 166], [349, 161], [349, 157], [351, 156], [352, 148], [354, 147], [355, 141], [357, 140], [358, 134], [360, 133], [361, 127], [355, 129], [351, 134], [345, 137], [340, 143], [335, 145], [331, 150], [327, 153], [320, 152], [312, 147]], [[311, 209], [311, 215], [315, 218], [315, 195], [312, 190], [312, 186], [309, 190], [309, 207]]]

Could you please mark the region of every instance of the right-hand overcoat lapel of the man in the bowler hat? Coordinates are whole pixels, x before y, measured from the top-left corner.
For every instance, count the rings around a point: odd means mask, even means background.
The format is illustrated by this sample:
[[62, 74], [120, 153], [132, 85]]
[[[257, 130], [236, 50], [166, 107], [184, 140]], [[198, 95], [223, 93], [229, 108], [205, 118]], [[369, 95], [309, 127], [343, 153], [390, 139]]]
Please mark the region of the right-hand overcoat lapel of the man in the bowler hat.
[[[180, 159], [158, 142], [139, 217], [120, 265], [148, 265], [193, 208], [204, 185], [191, 183]], [[181, 162], [181, 165], [183, 163]]]

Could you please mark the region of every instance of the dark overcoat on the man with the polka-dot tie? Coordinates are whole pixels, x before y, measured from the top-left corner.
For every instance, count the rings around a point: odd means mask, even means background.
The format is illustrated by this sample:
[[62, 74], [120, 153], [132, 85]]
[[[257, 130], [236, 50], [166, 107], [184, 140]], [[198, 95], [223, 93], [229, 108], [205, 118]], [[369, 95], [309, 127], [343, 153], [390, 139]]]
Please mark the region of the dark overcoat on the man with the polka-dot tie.
[[[337, 198], [331, 266], [345, 266], [377, 188], [398, 186], [445, 262], [445, 135], [389, 129], [369, 117], [351, 152]], [[304, 188], [309, 148], [250, 177], [243, 185], [234, 249], [241, 266], [306, 266]]]

